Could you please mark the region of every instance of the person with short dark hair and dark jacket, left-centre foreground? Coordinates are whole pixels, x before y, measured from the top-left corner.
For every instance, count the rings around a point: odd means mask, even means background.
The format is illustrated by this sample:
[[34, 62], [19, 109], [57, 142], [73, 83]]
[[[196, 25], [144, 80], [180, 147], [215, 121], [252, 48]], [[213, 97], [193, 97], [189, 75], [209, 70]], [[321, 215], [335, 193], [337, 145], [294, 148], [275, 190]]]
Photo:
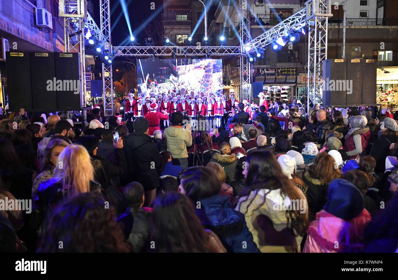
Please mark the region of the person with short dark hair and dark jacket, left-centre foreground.
[[117, 221], [124, 225], [125, 239], [131, 245], [131, 252], [143, 253], [152, 220], [152, 212], [142, 209], [145, 199], [144, 187], [139, 182], [129, 183], [123, 190], [123, 198], [127, 209]]

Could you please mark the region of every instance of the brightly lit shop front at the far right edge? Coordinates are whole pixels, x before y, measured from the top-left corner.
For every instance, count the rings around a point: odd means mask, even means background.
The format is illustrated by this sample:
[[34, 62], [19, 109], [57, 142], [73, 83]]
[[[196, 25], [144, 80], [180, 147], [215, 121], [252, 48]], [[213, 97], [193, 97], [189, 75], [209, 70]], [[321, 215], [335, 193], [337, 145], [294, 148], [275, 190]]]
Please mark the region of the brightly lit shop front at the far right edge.
[[398, 104], [398, 68], [377, 68], [377, 103], [382, 108], [397, 108]]

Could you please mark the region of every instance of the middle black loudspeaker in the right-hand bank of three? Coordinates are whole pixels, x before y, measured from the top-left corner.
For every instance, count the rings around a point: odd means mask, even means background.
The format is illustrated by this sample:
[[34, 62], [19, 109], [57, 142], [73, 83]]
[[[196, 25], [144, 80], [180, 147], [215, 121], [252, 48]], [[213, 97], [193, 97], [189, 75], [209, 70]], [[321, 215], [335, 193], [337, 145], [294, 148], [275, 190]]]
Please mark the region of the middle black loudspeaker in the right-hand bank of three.
[[[362, 103], [362, 60], [347, 60], [347, 106], [354, 107]], [[351, 86], [351, 88], [349, 88]], [[351, 93], [350, 93], [351, 92]], [[349, 106], [352, 105], [352, 106]]]

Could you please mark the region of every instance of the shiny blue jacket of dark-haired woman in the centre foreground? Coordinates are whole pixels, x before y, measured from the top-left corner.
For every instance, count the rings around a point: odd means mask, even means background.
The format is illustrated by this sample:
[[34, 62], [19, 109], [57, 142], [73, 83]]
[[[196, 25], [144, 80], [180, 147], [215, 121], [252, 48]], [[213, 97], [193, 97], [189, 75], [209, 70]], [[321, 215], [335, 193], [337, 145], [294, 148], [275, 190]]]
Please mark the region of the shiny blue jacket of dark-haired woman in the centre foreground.
[[200, 202], [201, 207], [195, 212], [203, 227], [220, 238], [228, 253], [259, 253], [244, 215], [231, 207], [228, 196], [215, 195]]

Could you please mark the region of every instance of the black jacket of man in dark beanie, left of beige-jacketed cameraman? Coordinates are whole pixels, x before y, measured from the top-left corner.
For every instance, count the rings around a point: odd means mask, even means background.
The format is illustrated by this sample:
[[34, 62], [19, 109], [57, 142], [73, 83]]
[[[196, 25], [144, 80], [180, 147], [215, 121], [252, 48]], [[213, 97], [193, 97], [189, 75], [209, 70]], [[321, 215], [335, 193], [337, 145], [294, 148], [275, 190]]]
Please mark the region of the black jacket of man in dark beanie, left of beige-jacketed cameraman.
[[146, 192], [158, 188], [160, 154], [152, 137], [133, 132], [125, 137], [123, 145], [129, 168], [129, 182], [141, 183]]

